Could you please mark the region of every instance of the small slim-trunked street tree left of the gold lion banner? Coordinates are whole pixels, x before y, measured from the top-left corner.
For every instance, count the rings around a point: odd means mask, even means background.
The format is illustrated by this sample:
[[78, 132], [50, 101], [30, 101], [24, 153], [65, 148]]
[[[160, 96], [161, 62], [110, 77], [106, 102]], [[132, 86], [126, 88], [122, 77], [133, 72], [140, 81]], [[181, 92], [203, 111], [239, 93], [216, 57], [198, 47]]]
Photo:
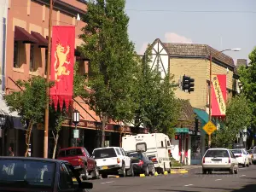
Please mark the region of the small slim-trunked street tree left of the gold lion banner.
[[26, 153], [28, 154], [30, 137], [33, 125], [44, 122], [44, 110], [46, 105], [46, 88], [53, 85], [46, 83], [43, 77], [32, 77], [27, 81], [16, 82], [22, 90], [13, 91], [5, 95], [4, 99], [11, 112], [19, 113], [23, 121], [28, 121], [26, 129]]

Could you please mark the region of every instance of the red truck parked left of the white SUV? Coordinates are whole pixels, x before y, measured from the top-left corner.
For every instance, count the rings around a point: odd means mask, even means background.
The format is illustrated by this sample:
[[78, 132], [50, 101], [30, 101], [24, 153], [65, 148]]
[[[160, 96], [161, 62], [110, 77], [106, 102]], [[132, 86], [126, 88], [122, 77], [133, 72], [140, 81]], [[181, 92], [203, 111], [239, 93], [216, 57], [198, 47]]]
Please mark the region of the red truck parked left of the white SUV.
[[71, 165], [79, 170], [84, 180], [91, 174], [93, 178], [99, 178], [100, 174], [94, 160], [86, 148], [61, 148], [57, 157], [58, 160], [67, 160]]

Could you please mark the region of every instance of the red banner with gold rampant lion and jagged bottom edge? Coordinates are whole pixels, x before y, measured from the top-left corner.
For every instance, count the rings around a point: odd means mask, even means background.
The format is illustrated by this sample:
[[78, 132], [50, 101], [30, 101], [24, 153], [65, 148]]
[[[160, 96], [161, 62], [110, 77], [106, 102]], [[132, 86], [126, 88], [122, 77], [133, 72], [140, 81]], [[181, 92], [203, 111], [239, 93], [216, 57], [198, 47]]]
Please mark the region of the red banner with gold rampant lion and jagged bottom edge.
[[50, 80], [55, 86], [49, 90], [55, 110], [58, 102], [61, 110], [73, 100], [73, 66], [75, 26], [53, 26], [51, 45]]

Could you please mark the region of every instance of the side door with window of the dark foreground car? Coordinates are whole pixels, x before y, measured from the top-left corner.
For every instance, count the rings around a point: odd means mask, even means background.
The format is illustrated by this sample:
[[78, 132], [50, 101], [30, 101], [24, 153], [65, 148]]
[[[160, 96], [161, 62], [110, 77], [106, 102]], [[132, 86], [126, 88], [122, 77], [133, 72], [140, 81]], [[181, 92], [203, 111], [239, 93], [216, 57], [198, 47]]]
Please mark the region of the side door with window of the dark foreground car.
[[75, 192], [79, 189], [79, 183], [68, 164], [61, 164], [59, 175], [59, 191]]

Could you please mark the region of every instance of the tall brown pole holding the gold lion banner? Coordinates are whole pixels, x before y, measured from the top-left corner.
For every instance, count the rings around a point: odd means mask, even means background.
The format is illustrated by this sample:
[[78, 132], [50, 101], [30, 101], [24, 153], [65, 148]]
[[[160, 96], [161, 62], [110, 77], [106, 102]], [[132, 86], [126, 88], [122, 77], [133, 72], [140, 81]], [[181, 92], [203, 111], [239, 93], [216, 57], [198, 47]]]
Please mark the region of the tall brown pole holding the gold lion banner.
[[[46, 83], [49, 84], [50, 69], [50, 47], [51, 47], [51, 28], [52, 28], [52, 9], [53, 0], [49, 0], [49, 34], [48, 34], [48, 57], [47, 57], [47, 78]], [[49, 132], [49, 86], [46, 87], [46, 106], [44, 113], [44, 158], [48, 158], [48, 132]]]

